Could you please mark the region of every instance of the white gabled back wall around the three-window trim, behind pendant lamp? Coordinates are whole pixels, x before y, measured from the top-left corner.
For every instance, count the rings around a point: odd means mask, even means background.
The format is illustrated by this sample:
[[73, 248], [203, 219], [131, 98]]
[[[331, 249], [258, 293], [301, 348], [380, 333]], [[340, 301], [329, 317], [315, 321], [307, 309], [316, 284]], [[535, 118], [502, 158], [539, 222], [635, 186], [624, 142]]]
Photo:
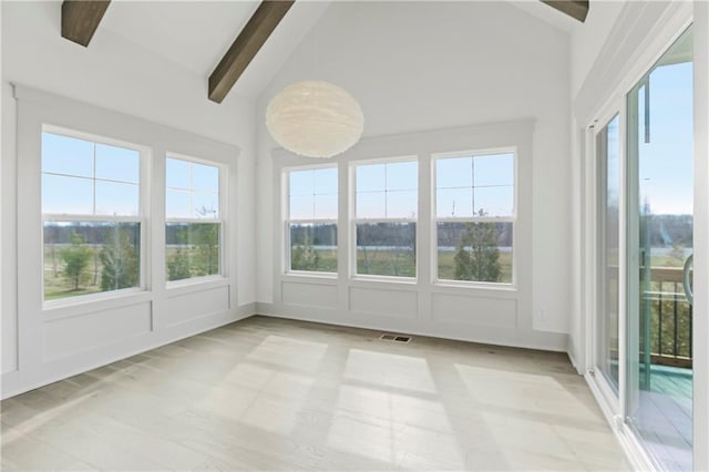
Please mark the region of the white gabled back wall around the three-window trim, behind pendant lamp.
[[[335, 82], [359, 100], [368, 136], [535, 120], [534, 249], [527, 268], [532, 304], [521, 307], [518, 326], [561, 334], [565, 340], [572, 287], [567, 34], [504, 2], [332, 4], [258, 100], [257, 299], [263, 310], [279, 301], [274, 298], [279, 280], [274, 257], [280, 257], [273, 250], [279, 230], [273, 212], [275, 144], [263, 125], [264, 113], [282, 86], [315, 78]], [[370, 318], [361, 325], [383, 322]], [[425, 326], [432, 332], [434, 325]], [[476, 329], [472, 324], [458, 332], [474, 339]], [[533, 343], [534, 332], [520, 329], [516, 340], [506, 342]], [[552, 346], [558, 339], [551, 336], [546, 347], [558, 348]]]

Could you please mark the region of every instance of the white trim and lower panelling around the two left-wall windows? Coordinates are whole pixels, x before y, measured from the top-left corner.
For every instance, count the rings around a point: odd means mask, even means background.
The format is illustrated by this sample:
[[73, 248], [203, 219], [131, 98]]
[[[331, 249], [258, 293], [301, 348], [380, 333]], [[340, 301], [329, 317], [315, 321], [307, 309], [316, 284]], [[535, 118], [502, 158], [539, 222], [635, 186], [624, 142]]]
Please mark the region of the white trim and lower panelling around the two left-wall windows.
[[[247, 173], [250, 168], [250, 164], [242, 162], [238, 145], [29, 86], [10, 85], [17, 101], [8, 103], [12, 109], [17, 105], [17, 141], [10, 143], [11, 155], [3, 154], [3, 164], [8, 164], [11, 174], [3, 174], [3, 178], [11, 177], [12, 184], [10, 206], [4, 208], [8, 209], [4, 216], [11, 238], [3, 249], [12, 252], [8, 253], [12, 260], [4, 268], [13, 275], [14, 283], [6, 287], [9, 289], [6, 295], [11, 299], [4, 308], [14, 310], [8, 315], [17, 321], [12, 328], [17, 342], [6, 349], [14, 351], [9, 365], [14, 370], [2, 374], [4, 397], [210, 329], [251, 310], [250, 294], [247, 290], [244, 297], [238, 290], [239, 275], [246, 277], [246, 285], [250, 281], [248, 270], [240, 274], [237, 257], [237, 247], [242, 252], [243, 243], [250, 242], [247, 228], [239, 232], [246, 237], [244, 242], [236, 230], [228, 232], [224, 238], [225, 254], [228, 252], [229, 255], [225, 256], [228, 264], [225, 268], [229, 276], [216, 281], [167, 290], [162, 250], [165, 235], [163, 157], [166, 151], [175, 150], [222, 163], [228, 170], [224, 178], [229, 188], [236, 188], [237, 178], [247, 178], [240, 175], [239, 168], [246, 165]], [[146, 165], [146, 175], [142, 176], [147, 195], [143, 199], [147, 240], [141, 248], [146, 264], [144, 291], [112, 294], [106, 299], [83, 299], [61, 307], [43, 306], [40, 176], [41, 132], [47, 123], [138, 143], [147, 151], [150, 165]], [[244, 191], [248, 196], [248, 188]], [[242, 193], [234, 192], [230, 197], [224, 195], [228, 208], [223, 207], [223, 215], [229, 226], [240, 215], [237, 205], [240, 205]], [[249, 222], [250, 215], [247, 208], [245, 211]], [[247, 255], [245, 264], [250, 263]]]

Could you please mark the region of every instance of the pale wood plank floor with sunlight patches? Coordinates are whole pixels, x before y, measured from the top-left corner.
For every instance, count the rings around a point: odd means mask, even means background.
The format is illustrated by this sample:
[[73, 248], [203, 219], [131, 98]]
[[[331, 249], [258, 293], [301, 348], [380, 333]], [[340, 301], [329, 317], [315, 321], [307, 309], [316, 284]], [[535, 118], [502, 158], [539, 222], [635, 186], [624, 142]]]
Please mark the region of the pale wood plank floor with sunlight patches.
[[628, 470], [565, 355], [254, 317], [2, 402], [2, 470]]

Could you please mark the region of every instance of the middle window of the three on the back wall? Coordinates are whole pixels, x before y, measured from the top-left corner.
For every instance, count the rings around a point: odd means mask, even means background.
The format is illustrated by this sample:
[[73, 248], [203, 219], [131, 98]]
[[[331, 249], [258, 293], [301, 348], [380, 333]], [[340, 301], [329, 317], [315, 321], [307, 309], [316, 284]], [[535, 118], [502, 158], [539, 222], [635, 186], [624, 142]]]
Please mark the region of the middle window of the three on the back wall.
[[417, 276], [419, 163], [358, 164], [356, 170], [356, 273]]

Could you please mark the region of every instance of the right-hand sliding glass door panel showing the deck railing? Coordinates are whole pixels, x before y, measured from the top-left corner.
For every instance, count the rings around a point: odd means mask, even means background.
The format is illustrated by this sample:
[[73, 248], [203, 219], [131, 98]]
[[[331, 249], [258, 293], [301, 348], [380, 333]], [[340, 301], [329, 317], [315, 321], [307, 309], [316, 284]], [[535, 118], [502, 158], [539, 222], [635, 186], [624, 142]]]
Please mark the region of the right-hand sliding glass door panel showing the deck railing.
[[[666, 470], [692, 469], [692, 34], [627, 95], [626, 421]], [[603, 288], [603, 287], [602, 287]]]

